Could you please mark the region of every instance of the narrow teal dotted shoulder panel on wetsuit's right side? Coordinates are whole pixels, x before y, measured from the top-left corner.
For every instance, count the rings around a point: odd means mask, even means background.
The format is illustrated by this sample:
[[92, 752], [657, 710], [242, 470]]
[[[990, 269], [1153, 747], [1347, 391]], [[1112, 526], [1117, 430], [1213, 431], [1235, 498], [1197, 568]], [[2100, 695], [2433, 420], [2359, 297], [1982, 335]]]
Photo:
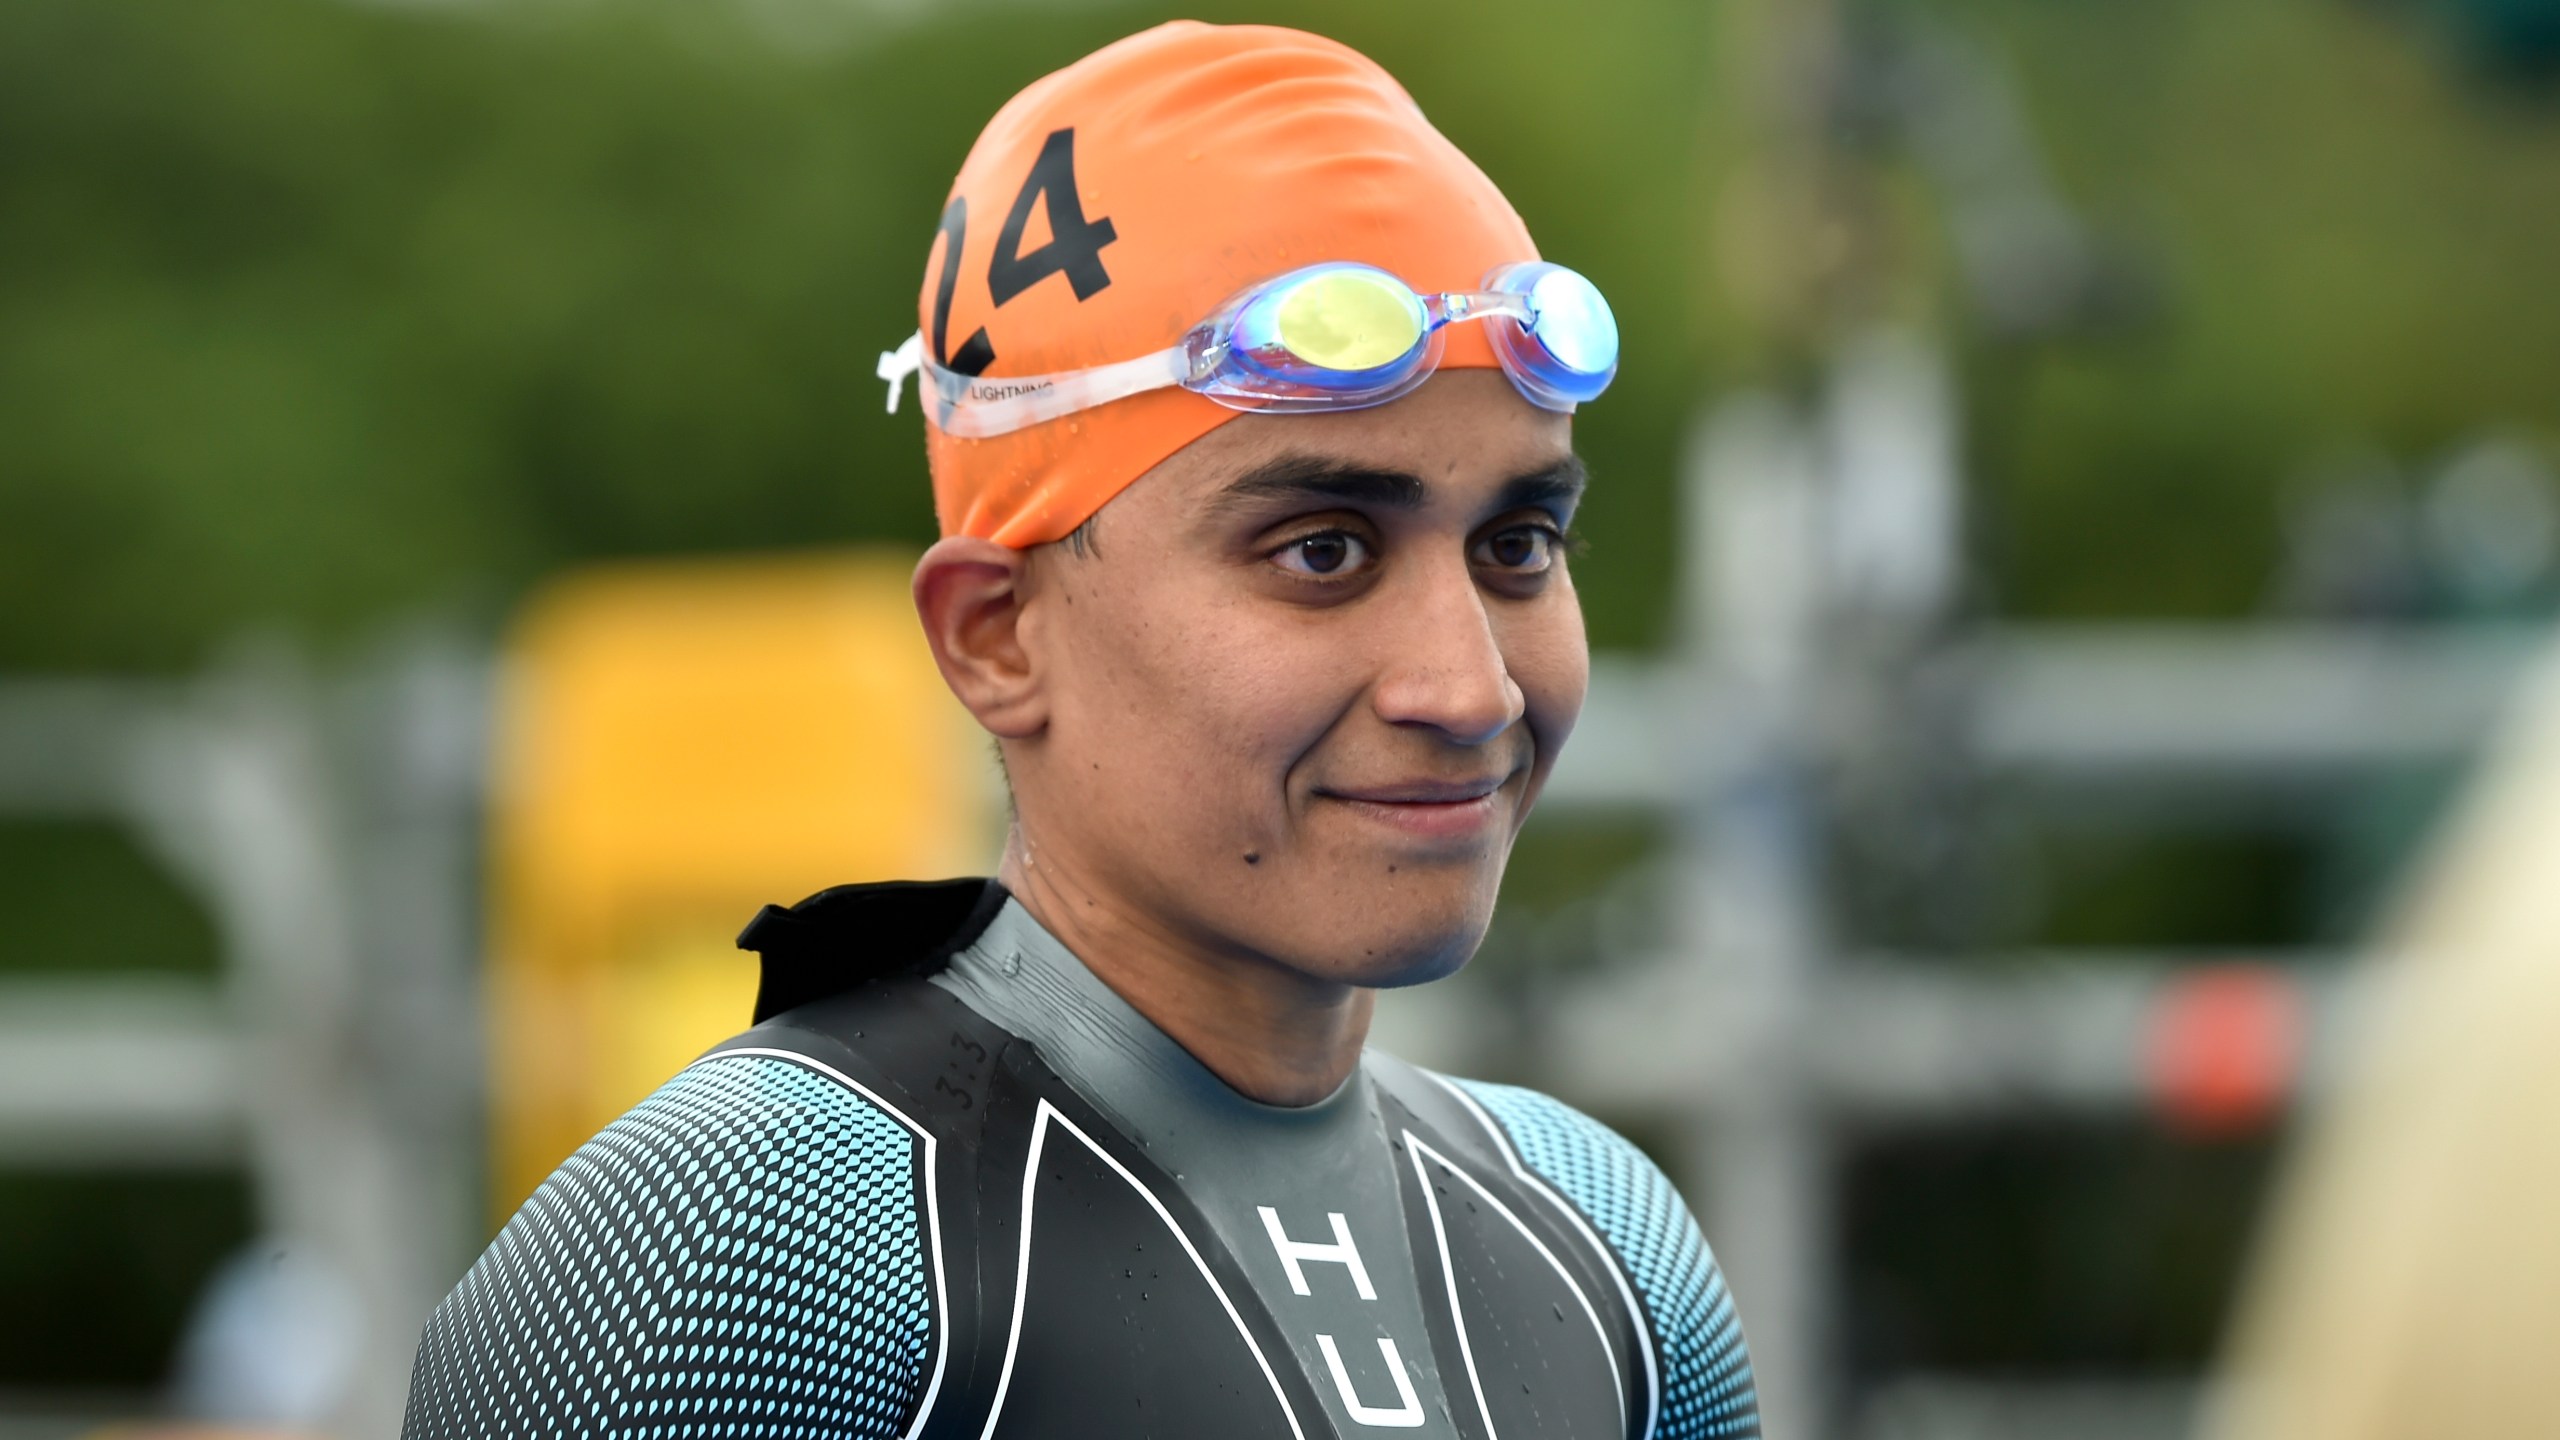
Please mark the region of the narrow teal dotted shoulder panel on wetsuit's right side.
[[1723, 1271], [1679, 1191], [1615, 1130], [1533, 1089], [1457, 1081], [1618, 1253], [1661, 1355], [1659, 1440], [1759, 1435], [1751, 1353]]

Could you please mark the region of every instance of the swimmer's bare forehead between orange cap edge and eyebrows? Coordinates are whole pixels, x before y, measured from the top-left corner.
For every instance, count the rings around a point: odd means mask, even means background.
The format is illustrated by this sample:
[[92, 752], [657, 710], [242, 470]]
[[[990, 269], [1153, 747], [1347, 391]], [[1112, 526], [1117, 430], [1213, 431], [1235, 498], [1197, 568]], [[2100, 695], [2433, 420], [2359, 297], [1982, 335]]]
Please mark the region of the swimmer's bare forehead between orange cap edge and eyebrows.
[[1275, 464], [1405, 474], [1423, 507], [1475, 507], [1516, 477], [1572, 461], [1572, 420], [1521, 400], [1500, 372], [1454, 369], [1370, 410], [1239, 415], [1139, 477], [1111, 512], [1198, 523], [1234, 505], [1239, 477]]

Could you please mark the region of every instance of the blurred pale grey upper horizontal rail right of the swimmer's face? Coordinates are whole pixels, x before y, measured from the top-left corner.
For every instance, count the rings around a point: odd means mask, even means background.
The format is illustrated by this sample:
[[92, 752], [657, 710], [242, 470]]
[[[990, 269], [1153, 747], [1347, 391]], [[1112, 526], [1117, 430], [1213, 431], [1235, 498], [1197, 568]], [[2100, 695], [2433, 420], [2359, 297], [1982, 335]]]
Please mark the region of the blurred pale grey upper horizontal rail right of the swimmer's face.
[[[2547, 643], [2540, 625], [1979, 625], [1920, 666], [1964, 694], [1953, 761], [2089, 802], [2266, 822], [2317, 820], [2342, 776], [2473, 753]], [[1541, 812], [1664, 807], [1664, 766], [1746, 748], [1728, 705], [1690, 669], [1592, 656]], [[2284, 797], [2307, 805], [2271, 805]]]

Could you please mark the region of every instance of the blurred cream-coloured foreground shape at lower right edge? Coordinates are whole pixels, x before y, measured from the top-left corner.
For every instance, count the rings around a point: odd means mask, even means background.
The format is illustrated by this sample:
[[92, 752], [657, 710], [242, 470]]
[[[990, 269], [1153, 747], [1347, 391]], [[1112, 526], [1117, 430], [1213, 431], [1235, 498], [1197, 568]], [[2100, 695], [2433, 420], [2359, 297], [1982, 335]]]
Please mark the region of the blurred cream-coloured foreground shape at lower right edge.
[[2412, 899], [2273, 1207], [2214, 1440], [2560, 1435], [2560, 653]]

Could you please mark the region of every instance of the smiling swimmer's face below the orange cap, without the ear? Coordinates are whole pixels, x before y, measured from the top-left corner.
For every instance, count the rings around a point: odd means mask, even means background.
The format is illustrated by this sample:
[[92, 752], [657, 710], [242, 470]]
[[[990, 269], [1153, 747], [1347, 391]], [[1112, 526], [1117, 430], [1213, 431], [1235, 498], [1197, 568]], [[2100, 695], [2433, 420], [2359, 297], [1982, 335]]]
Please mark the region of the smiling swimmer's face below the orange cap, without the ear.
[[991, 728], [1032, 863], [1318, 979], [1462, 966], [1590, 679], [1580, 492], [1569, 423], [1490, 369], [1147, 471], [1088, 553], [1024, 556], [1037, 697]]

